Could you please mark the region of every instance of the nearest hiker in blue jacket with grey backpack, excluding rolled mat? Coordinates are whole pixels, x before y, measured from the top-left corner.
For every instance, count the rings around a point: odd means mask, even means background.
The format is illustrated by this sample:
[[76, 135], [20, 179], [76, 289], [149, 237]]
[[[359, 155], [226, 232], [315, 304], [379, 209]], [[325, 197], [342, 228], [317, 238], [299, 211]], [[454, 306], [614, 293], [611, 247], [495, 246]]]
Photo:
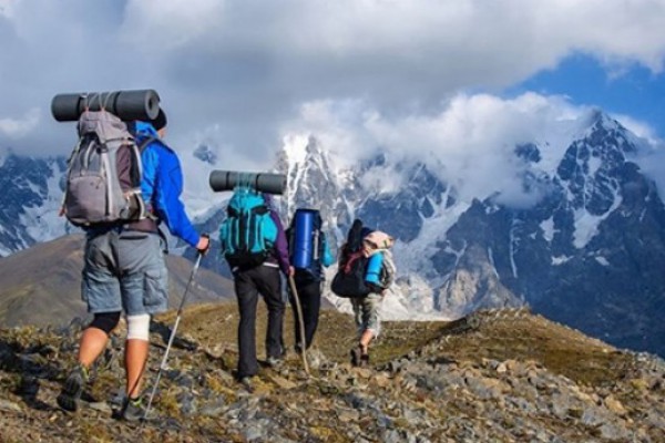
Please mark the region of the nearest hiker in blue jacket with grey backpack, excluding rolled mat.
[[[115, 128], [113, 136], [106, 126]], [[134, 126], [133, 133], [129, 126]], [[196, 233], [180, 199], [183, 176], [177, 155], [163, 142], [165, 126], [166, 115], [162, 110], [152, 121], [133, 123], [125, 123], [103, 110], [99, 113], [86, 111], [81, 115], [80, 135], [82, 140], [91, 136], [85, 143], [92, 143], [94, 148], [94, 143], [103, 142], [108, 152], [114, 152], [113, 143], [139, 146], [140, 159], [129, 162], [126, 158], [131, 151], [126, 152], [127, 155], [121, 155], [123, 150], [117, 150], [117, 162], [115, 158], [110, 162], [93, 162], [90, 155], [94, 156], [95, 151], [86, 154], [85, 146], [76, 147], [70, 159], [63, 213], [70, 222], [85, 230], [82, 298], [94, 318], [81, 337], [78, 365], [66, 378], [57, 399], [64, 410], [76, 411], [79, 408], [81, 394], [89, 381], [89, 370], [104, 351], [109, 336], [124, 311], [127, 324], [124, 358], [126, 398], [121, 416], [127, 421], [143, 418], [141, 387], [150, 349], [151, 316], [166, 310], [168, 301], [164, 257], [166, 245], [157, 226], [165, 224], [173, 235], [196, 248], [200, 254], [208, 249], [208, 238]], [[85, 162], [78, 161], [83, 157]], [[82, 165], [92, 167], [94, 164], [106, 165], [121, 177], [121, 200], [123, 195], [127, 198], [127, 183], [124, 183], [127, 178], [123, 172], [131, 171], [137, 175], [139, 183], [135, 185], [139, 188], [135, 195], [140, 202], [139, 216], [121, 216], [116, 219], [106, 216], [102, 222], [99, 218], [85, 220], [85, 214], [99, 213], [86, 212], [86, 206], [104, 203], [101, 195], [79, 195], [92, 188], [85, 182], [82, 186], [76, 185], [78, 181], [88, 181], [89, 176], [80, 174], [79, 169]], [[108, 178], [113, 174], [101, 176]], [[108, 194], [113, 195], [111, 190]], [[110, 203], [106, 205], [109, 207], [112, 207]]]

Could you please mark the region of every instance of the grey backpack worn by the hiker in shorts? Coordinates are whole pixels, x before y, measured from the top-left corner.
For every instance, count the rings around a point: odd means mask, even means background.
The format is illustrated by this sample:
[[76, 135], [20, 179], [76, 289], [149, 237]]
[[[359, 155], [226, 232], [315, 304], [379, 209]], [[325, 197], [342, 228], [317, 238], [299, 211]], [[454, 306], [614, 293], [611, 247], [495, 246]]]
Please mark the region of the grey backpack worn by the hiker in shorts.
[[127, 125], [110, 112], [85, 111], [78, 131], [64, 192], [66, 218], [82, 227], [145, 218], [141, 150]]

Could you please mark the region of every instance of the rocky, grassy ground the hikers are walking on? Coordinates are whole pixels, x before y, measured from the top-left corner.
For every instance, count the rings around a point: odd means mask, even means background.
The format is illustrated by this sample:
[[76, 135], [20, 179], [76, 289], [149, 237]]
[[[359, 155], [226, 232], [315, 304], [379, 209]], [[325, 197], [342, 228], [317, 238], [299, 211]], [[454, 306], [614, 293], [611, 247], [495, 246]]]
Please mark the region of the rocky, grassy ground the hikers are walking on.
[[[286, 341], [293, 344], [291, 319]], [[156, 319], [155, 379], [174, 315]], [[265, 312], [257, 340], [263, 342]], [[122, 327], [76, 414], [55, 396], [81, 322], [0, 330], [0, 442], [664, 442], [665, 363], [525, 310], [456, 322], [387, 322], [371, 368], [351, 368], [354, 327], [324, 311], [310, 374], [289, 353], [253, 392], [236, 383], [235, 305], [185, 311], [153, 413], [115, 419]], [[263, 350], [259, 349], [259, 358]]]

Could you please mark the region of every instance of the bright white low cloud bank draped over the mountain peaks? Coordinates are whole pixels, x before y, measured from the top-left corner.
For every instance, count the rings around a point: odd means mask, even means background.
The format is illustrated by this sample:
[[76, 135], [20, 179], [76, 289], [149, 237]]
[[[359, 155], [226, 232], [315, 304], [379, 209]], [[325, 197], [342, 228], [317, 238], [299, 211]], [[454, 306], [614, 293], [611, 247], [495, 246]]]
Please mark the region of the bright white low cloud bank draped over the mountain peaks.
[[[513, 100], [460, 94], [438, 113], [406, 117], [381, 114], [367, 103], [327, 101], [304, 105], [301, 119], [283, 127], [283, 134], [313, 134], [342, 164], [379, 152], [389, 162], [421, 161], [454, 185], [463, 202], [499, 190], [503, 203], [524, 206], [544, 189], [523, 188], [523, 175], [531, 168], [515, 157], [515, 146], [538, 143], [538, 169], [552, 175], [591, 114], [592, 109], [573, 106], [560, 96], [533, 93]], [[388, 188], [385, 181], [371, 185]]]

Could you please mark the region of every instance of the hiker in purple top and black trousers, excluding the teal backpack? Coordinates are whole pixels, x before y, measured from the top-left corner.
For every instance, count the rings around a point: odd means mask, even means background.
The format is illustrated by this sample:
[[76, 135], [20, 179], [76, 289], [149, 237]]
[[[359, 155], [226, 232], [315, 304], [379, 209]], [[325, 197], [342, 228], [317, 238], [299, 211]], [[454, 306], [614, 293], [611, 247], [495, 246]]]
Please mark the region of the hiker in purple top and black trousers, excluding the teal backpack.
[[266, 357], [270, 367], [282, 362], [283, 326], [285, 301], [282, 297], [282, 274], [294, 275], [294, 268], [288, 259], [286, 235], [279, 215], [273, 206], [269, 194], [263, 194], [270, 210], [270, 218], [277, 227], [277, 239], [268, 258], [262, 264], [248, 269], [232, 269], [235, 292], [238, 301], [238, 367], [237, 378], [241, 383], [250, 389], [252, 378], [258, 372], [256, 360], [256, 308], [260, 295], [268, 308], [268, 324], [266, 330]]

